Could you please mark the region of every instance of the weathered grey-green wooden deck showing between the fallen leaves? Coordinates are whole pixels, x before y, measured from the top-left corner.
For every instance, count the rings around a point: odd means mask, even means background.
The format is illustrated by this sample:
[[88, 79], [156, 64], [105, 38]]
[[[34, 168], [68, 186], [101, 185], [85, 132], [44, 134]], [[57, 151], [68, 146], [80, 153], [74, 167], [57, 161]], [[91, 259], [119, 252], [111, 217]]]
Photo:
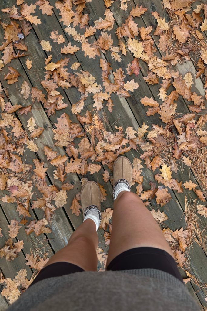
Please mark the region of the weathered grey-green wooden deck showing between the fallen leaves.
[[[25, 1], [28, 4], [32, 3], [34, 4], [36, 0], [30, 0]], [[28, 70], [28, 68], [25, 66], [25, 57], [13, 59], [11, 61], [11, 64], [8, 64], [15, 68], [22, 77], [19, 77], [19, 82], [15, 84], [9, 85], [8, 91], [9, 91], [9, 98], [12, 105], [21, 104], [23, 106], [28, 106], [32, 104], [32, 101], [29, 99], [24, 100], [22, 98], [22, 95], [20, 95], [20, 86], [22, 82], [25, 80], [29, 83], [30, 87], [37, 87], [39, 90], [43, 90], [43, 93], [46, 94], [46, 91], [44, 90], [43, 86], [40, 84], [42, 80], [44, 80], [45, 76], [45, 63], [44, 60], [47, 57], [47, 55], [50, 55], [52, 53], [52, 59], [53, 62], [56, 62], [60, 60], [61, 58], [64, 58], [62, 54], [60, 54], [60, 49], [63, 46], [63, 44], [57, 44], [50, 39], [50, 33], [52, 30], [59, 30], [59, 34], [63, 35], [63, 38], [65, 38], [65, 44], [68, 42], [73, 42], [72, 45], [76, 44], [77, 47], [81, 48], [81, 44], [79, 41], [74, 42], [73, 38], [64, 31], [65, 26], [63, 25], [63, 22], [59, 22], [60, 16], [59, 16], [59, 10], [56, 10], [55, 6], [55, 0], [51, 0], [50, 4], [54, 7], [53, 8], [53, 14], [52, 16], [47, 16], [46, 14], [42, 15], [41, 10], [36, 10], [36, 14], [38, 15], [38, 18], [41, 20], [41, 25], [35, 26], [32, 25], [33, 28], [31, 30], [31, 33], [25, 38], [26, 45], [28, 46], [28, 52], [32, 56], [32, 68]], [[152, 26], [153, 30], [156, 28], [156, 23], [154, 17], [151, 15], [151, 11], [157, 11], [160, 16], [165, 17], [166, 21], [168, 20], [168, 15], [163, 9], [162, 3], [160, 0], [143, 0], [143, 1], [137, 1], [134, 0], [134, 3], [139, 5], [142, 4], [143, 7], [147, 7], [148, 11], [145, 12], [141, 17], [136, 18], [135, 22], [138, 23], [139, 27], [146, 27], [146, 26]], [[110, 7], [111, 12], [114, 15], [115, 18], [115, 26], [114, 29], [110, 31], [111, 38], [114, 40], [114, 46], [117, 46], [118, 44], [118, 38], [115, 34], [116, 27], [121, 26], [122, 22], [125, 20], [124, 17], [129, 14], [129, 11], [123, 11], [119, 8], [119, 1], [114, 1], [112, 3], [112, 6]], [[8, 0], [1, 2], [1, 9], [6, 7], [12, 7], [12, 5], [16, 5], [15, 0]], [[87, 2], [86, 4], [87, 9], [84, 9], [84, 13], [89, 12], [89, 25], [93, 26], [93, 21], [99, 20], [99, 17], [105, 18], [104, 13], [106, 10], [106, 7], [104, 6], [104, 1], [100, 0], [92, 0], [92, 2]], [[130, 8], [131, 10], [131, 8]], [[8, 21], [8, 14], [2, 13], [0, 11], [0, 17], [2, 22]], [[84, 29], [81, 30], [81, 34], [84, 33]], [[100, 33], [97, 32], [97, 35], [92, 35], [88, 37], [89, 43], [93, 42], [94, 39], [98, 39]], [[3, 42], [3, 30], [0, 29], [0, 38], [1, 42]], [[158, 37], [157, 37], [158, 38]], [[156, 39], [156, 36], [155, 38]], [[44, 51], [39, 41], [50, 41], [50, 44], [52, 45], [51, 52]], [[156, 45], [156, 40], [155, 40]], [[159, 51], [159, 48], [156, 46], [156, 48]], [[162, 52], [160, 52], [160, 55], [162, 55]], [[67, 55], [67, 57], [70, 57], [70, 63], [68, 64], [68, 71], [71, 72], [70, 64], [74, 62], [81, 63], [81, 67], [79, 69], [92, 72], [93, 77], [96, 78], [97, 84], [102, 85], [102, 70], [100, 68], [100, 57], [96, 57], [95, 59], [91, 58], [89, 59], [88, 56], [84, 57], [84, 53], [80, 49], [79, 51], [75, 52], [74, 55]], [[129, 62], [133, 60], [133, 55], [129, 51], [127, 52], [127, 55], [122, 55], [121, 62], [116, 62], [115, 59], [113, 59], [110, 56], [110, 53], [106, 53], [105, 55], [101, 56], [103, 59], [106, 59], [113, 68], [113, 71], [116, 71], [119, 67], [127, 68], [127, 65]], [[160, 56], [159, 56], [160, 57]], [[138, 127], [142, 126], [142, 123], [145, 122], [146, 125], [149, 126], [149, 130], [152, 128], [152, 124], [159, 124], [161, 125], [162, 122], [160, 119], [158, 119], [155, 116], [146, 116], [146, 107], [144, 107], [140, 103], [140, 99], [145, 97], [153, 97], [158, 102], [161, 102], [155, 94], [158, 94], [158, 89], [160, 88], [160, 85], [147, 85], [147, 83], [144, 81], [143, 77], [147, 75], [148, 67], [144, 61], [140, 59], [140, 67], [142, 70], [140, 71], [140, 74], [138, 77], [135, 77], [133, 75], [134, 81], [138, 82], [139, 88], [137, 90], [134, 90], [133, 96], [128, 98], [120, 98], [120, 96], [116, 95], [115, 93], [111, 94], [111, 99], [113, 100], [113, 104], [115, 105], [113, 107], [112, 113], [110, 113], [106, 108], [104, 108], [104, 113], [106, 114], [106, 117], [108, 119], [108, 131], [115, 131], [115, 126], [122, 126], [125, 130], [127, 126], [132, 126], [134, 129], [137, 130]], [[195, 77], [196, 69], [191, 61], [188, 61], [187, 63], [183, 65], [176, 65], [175, 69], [179, 71], [180, 74], [184, 75], [188, 71], [191, 72], [192, 76]], [[4, 74], [8, 72], [7, 66], [2, 68], [2, 71], [0, 72], [0, 80], [2, 81], [3, 87], [7, 88], [7, 81], [3, 81]], [[129, 76], [127, 75], [129, 78]], [[129, 79], [130, 80], [130, 79]], [[169, 88], [169, 91], [173, 90], [173, 86], [171, 85]], [[58, 89], [58, 91], [62, 94], [62, 89]], [[77, 91], [75, 87], [71, 87], [64, 90], [64, 98], [65, 103], [68, 104], [68, 107], [65, 109], [65, 113], [70, 116], [70, 119], [72, 122], [79, 123], [78, 119], [76, 118], [75, 114], [71, 113], [72, 104], [75, 104], [80, 99], [80, 93]], [[199, 93], [198, 95], [205, 95], [205, 91], [203, 89], [203, 83], [200, 80], [200, 78], [195, 79], [195, 83], [192, 85], [192, 92], [196, 91], [196, 93]], [[155, 98], [156, 97], [156, 98]], [[93, 101], [92, 98], [88, 97], [85, 100], [85, 107], [81, 111], [83, 115], [85, 115], [86, 111], [92, 111], [93, 108]], [[179, 113], [185, 114], [189, 113], [189, 109], [183, 100], [181, 96], [179, 96], [178, 102], [177, 102], [177, 111]], [[60, 148], [54, 145], [53, 138], [53, 124], [57, 123], [57, 118], [60, 117], [60, 115], [63, 113], [63, 110], [56, 111], [55, 115], [51, 115], [50, 117], [47, 116], [45, 110], [43, 109], [43, 106], [41, 102], [37, 103], [37, 101], [34, 103], [32, 107], [32, 114], [29, 112], [27, 116], [23, 114], [22, 116], [18, 114], [18, 117], [20, 119], [20, 122], [22, 123], [23, 127], [26, 129], [27, 121], [28, 119], [33, 116], [33, 118], [36, 120], [36, 123], [39, 127], [45, 128], [42, 135], [38, 139], [36, 139], [35, 143], [38, 146], [38, 151], [35, 153], [33, 151], [30, 151], [28, 149], [25, 150], [24, 155], [22, 157], [23, 163], [31, 164], [33, 165], [33, 168], [35, 168], [33, 159], [38, 158], [45, 163], [45, 167], [47, 166], [47, 157], [44, 156], [43, 147], [49, 146], [52, 148], [53, 151], [57, 151], [58, 154], [61, 156], [64, 156], [66, 154], [64, 148]], [[103, 111], [100, 111], [100, 114], [102, 114]], [[205, 110], [204, 110], [205, 113]], [[163, 125], [163, 124], [162, 124]], [[79, 140], [80, 141], [80, 140]], [[77, 140], [77, 142], [79, 143]], [[127, 152], [125, 156], [128, 157], [128, 159], [133, 162], [134, 157], [140, 157], [140, 153], [138, 151], [135, 151], [131, 149], [131, 151]], [[88, 163], [91, 163], [90, 160], [88, 160]], [[88, 180], [94, 180], [97, 181], [104, 186], [107, 193], [107, 199], [103, 203], [101, 203], [101, 210], [104, 211], [106, 208], [113, 208], [113, 199], [112, 199], [112, 185], [110, 181], [108, 181], [106, 184], [104, 183], [102, 179], [102, 174], [104, 171], [107, 170], [107, 166], [103, 165], [99, 173], [94, 173], [93, 175], [90, 175], [89, 173], [85, 174], [84, 177], [88, 178]], [[61, 186], [61, 183], [59, 183], [57, 180], [54, 182], [54, 167], [50, 165], [47, 169], [47, 183], [48, 184], [54, 184], [57, 187]], [[155, 182], [154, 175], [159, 172], [158, 169], [153, 172], [152, 170], [149, 170], [145, 167], [142, 169], [143, 171], [143, 188], [144, 190], [149, 189], [149, 181]], [[101, 174], [100, 174], [101, 173]], [[191, 170], [188, 169], [186, 166], [184, 168], [184, 171], [179, 169], [177, 171], [177, 174], [173, 172], [173, 178], [177, 179], [178, 182], [182, 181], [182, 183], [185, 183], [186, 181], [189, 181], [190, 179], [193, 183], [197, 183], [197, 180], [194, 177], [194, 174]], [[68, 183], [74, 183], [74, 188], [70, 190], [70, 193], [68, 193], [68, 199], [67, 204], [65, 204], [62, 208], [59, 208], [55, 211], [55, 216], [52, 219], [51, 229], [52, 233], [46, 235], [41, 235], [38, 237], [35, 237], [34, 232], [30, 234], [29, 236], [25, 235], [25, 228], [24, 226], [20, 227], [19, 234], [18, 234], [18, 240], [24, 240], [24, 248], [20, 253], [18, 253], [18, 257], [15, 258], [13, 261], [9, 262], [6, 260], [6, 258], [0, 259], [0, 269], [3, 272], [3, 275], [6, 278], [13, 279], [16, 276], [16, 272], [20, 269], [26, 269], [27, 275], [32, 276], [34, 270], [30, 269], [28, 265], [25, 265], [25, 254], [30, 254], [30, 249], [32, 249], [34, 246], [36, 248], [40, 248], [43, 245], [45, 246], [45, 250], [48, 253], [56, 253], [59, 249], [64, 247], [67, 244], [68, 239], [70, 238], [70, 235], [72, 232], [82, 223], [83, 216], [82, 213], [77, 217], [74, 213], [72, 214], [72, 210], [70, 209], [72, 200], [74, 199], [75, 194], [80, 192], [81, 190], [81, 180], [82, 175], [69, 173], [67, 174], [67, 179], [65, 182]], [[136, 187], [133, 186], [132, 190], [136, 192]], [[202, 190], [202, 189], [201, 189]], [[185, 228], [185, 217], [183, 216], [183, 213], [185, 211], [185, 196], [188, 198], [188, 200], [194, 200], [197, 199], [196, 194], [193, 191], [185, 190], [183, 193], [177, 193], [177, 191], [174, 191], [173, 189], [170, 189], [168, 191], [172, 197], [172, 200], [160, 208], [160, 211], [164, 211], [166, 215], [168, 216], [169, 220], [165, 221], [165, 224], [173, 231], [180, 228]], [[3, 192], [3, 196], [5, 194], [8, 194], [7, 191]], [[35, 193], [34, 193], [35, 195]], [[38, 194], [37, 194], [38, 196]], [[34, 196], [35, 199], [35, 196]], [[32, 202], [32, 201], [31, 201]], [[154, 204], [154, 205], [153, 205]], [[200, 203], [201, 204], [201, 203]], [[206, 204], [203, 203], [202, 204]], [[155, 199], [152, 200], [152, 205], [156, 205]], [[16, 212], [16, 203], [14, 204], [7, 204], [0, 201], [0, 227], [2, 228], [2, 234], [3, 237], [0, 238], [0, 247], [3, 247], [5, 245], [5, 240], [9, 239], [9, 233], [8, 233], [8, 226], [15, 217], [17, 220], [21, 220], [22, 217], [19, 216], [19, 213]], [[31, 209], [29, 208], [29, 212], [32, 216], [30, 219], [42, 219], [43, 218], [43, 211], [39, 209]], [[207, 219], [202, 217], [200, 218], [203, 225], [207, 225]], [[99, 236], [99, 242], [100, 246], [103, 248], [104, 252], [108, 252], [108, 246], [105, 244], [105, 239], [103, 237], [104, 230], [98, 230], [98, 236]], [[47, 239], [46, 239], [47, 238]], [[17, 242], [17, 239], [14, 238], [14, 242]], [[198, 280], [202, 283], [207, 284], [207, 252], [204, 252], [204, 250], [198, 246], [198, 244], [194, 243], [193, 247], [191, 247], [189, 250], [189, 258], [190, 258], [190, 269], [194, 272], [196, 272], [196, 276]], [[101, 265], [100, 265], [101, 266]], [[99, 268], [100, 268], [99, 266]], [[183, 277], [187, 277], [185, 275], [185, 272], [182, 270]], [[205, 295], [200, 290], [198, 290], [198, 287], [193, 282], [187, 282], [186, 284], [188, 290], [193, 295], [193, 297], [200, 302], [204, 307], [206, 306], [205, 301]], [[5, 298], [3, 298], [0, 295], [0, 310], [4, 310], [8, 307], [8, 303]]]

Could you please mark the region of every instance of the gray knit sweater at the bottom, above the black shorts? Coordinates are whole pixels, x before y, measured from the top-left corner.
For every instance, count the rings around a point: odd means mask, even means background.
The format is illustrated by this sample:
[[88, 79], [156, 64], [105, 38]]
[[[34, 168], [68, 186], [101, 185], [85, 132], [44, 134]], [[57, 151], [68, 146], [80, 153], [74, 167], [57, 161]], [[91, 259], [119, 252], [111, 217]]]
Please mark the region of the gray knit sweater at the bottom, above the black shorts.
[[8, 311], [197, 311], [185, 285], [155, 269], [76, 272], [28, 288]]

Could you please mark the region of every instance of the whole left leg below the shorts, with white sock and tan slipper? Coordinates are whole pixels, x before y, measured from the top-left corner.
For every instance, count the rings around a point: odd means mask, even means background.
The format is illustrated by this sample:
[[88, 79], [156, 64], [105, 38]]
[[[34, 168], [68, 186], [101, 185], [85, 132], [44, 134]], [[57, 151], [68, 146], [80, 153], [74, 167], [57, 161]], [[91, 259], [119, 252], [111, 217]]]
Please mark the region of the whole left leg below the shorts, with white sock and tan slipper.
[[81, 267], [85, 271], [97, 271], [97, 229], [101, 216], [100, 189], [98, 184], [94, 181], [85, 183], [80, 197], [85, 220], [73, 232], [68, 245], [53, 255], [45, 267], [55, 262], [69, 262]]

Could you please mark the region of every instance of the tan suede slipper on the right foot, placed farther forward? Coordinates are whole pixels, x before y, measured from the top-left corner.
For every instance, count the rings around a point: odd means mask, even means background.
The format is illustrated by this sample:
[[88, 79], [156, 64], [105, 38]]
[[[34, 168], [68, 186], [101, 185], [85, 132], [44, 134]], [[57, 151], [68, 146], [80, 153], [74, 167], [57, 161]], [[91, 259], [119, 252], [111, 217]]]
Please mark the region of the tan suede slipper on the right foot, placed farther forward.
[[113, 198], [115, 200], [114, 191], [115, 191], [115, 186], [118, 183], [126, 183], [130, 191], [130, 187], [132, 183], [131, 162], [124, 156], [117, 158], [113, 165], [113, 173], [114, 173]]

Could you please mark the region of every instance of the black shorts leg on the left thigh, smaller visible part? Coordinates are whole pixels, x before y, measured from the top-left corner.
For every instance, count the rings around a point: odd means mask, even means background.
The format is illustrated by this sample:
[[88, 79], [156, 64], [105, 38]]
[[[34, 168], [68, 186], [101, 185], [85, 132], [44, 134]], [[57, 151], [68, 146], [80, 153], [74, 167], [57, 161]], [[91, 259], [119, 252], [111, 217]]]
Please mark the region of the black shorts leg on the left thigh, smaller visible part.
[[36, 276], [36, 278], [34, 279], [34, 281], [32, 282], [32, 284], [30, 286], [37, 283], [38, 281], [42, 281], [42, 280], [47, 279], [49, 277], [62, 276], [62, 275], [66, 275], [66, 274], [71, 274], [71, 273], [75, 273], [75, 272], [83, 272], [83, 271], [84, 270], [82, 268], [74, 265], [73, 263], [69, 263], [69, 262], [51, 263], [50, 265], [43, 268], [38, 273], [38, 275]]

